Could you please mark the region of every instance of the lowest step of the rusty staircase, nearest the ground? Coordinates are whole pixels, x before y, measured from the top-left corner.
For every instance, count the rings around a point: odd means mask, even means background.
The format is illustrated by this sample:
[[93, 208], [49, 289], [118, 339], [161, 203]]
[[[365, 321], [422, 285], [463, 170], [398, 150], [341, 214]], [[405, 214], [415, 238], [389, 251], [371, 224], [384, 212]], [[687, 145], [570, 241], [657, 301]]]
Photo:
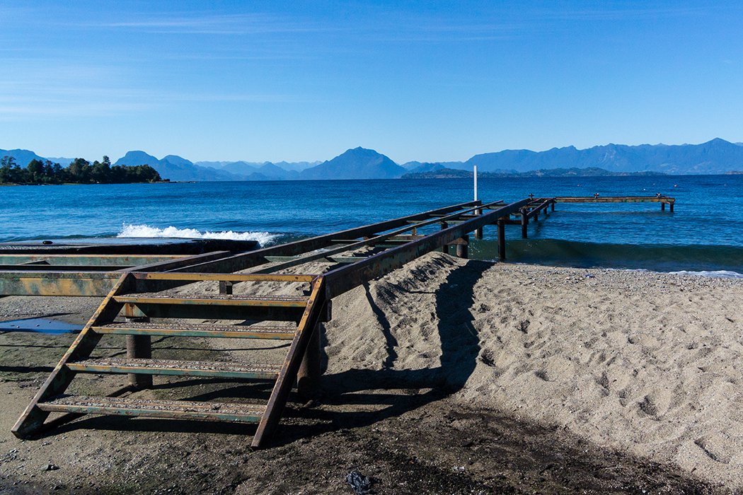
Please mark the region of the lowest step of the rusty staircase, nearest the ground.
[[257, 423], [266, 410], [266, 407], [261, 404], [160, 401], [89, 396], [60, 396], [51, 401], [39, 402], [36, 405], [39, 409], [51, 413], [111, 414], [236, 423]]

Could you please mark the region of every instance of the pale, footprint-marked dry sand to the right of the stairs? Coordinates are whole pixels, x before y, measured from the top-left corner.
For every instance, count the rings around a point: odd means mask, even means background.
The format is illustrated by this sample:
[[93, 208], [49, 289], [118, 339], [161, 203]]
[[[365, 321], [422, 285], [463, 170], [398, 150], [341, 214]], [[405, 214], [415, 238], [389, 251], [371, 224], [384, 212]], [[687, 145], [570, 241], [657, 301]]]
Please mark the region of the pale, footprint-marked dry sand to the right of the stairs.
[[739, 280], [431, 254], [334, 301], [328, 376], [438, 382], [742, 488], [742, 302]]

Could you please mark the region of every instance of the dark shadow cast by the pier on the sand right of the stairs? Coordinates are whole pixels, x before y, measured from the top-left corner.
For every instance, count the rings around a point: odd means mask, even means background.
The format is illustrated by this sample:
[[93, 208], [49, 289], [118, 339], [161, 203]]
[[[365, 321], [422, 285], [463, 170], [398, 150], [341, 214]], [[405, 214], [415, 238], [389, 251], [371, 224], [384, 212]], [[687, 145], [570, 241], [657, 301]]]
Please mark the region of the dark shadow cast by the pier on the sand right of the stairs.
[[[454, 269], [435, 292], [435, 312], [438, 317], [438, 335], [441, 340], [441, 366], [418, 370], [395, 370], [398, 358], [394, 347], [397, 338], [383, 310], [375, 303], [366, 287], [366, 298], [382, 328], [387, 357], [383, 370], [352, 369], [322, 376], [322, 403], [327, 408], [302, 408], [287, 411], [286, 416], [301, 416], [313, 424], [301, 427], [287, 424], [275, 441], [292, 442], [298, 438], [340, 430], [363, 427], [383, 419], [400, 416], [432, 401], [438, 401], [461, 390], [476, 367], [480, 352], [479, 338], [472, 326], [470, 308], [474, 301], [474, 287], [483, 272], [492, 263], [470, 260]], [[421, 389], [426, 390], [421, 393]], [[398, 390], [399, 393], [387, 393]], [[343, 410], [353, 406], [378, 406], [377, 410]]]

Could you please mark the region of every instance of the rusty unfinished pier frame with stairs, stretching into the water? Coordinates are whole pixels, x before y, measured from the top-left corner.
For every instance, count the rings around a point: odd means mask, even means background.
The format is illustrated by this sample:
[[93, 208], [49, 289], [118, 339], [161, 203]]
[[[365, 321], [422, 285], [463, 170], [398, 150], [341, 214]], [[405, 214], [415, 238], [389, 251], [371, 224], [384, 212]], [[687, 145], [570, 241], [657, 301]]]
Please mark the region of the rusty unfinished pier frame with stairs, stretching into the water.
[[[257, 424], [253, 446], [265, 446], [294, 384], [303, 397], [317, 390], [320, 325], [331, 318], [333, 298], [428, 252], [449, 252], [453, 246], [456, 255], [467, 258], [470, 233], [481, 237], [484, 226], [497, 226], [499, 257], [504, 260], [506, 225], [520, 225], [526, 236], [530, 220], [536, 222], [540, 214], [554, 211], [555, 203], [585, 199], [471, 201], [244, 252], [160, 254], [157, 259], [82, 254], [62, 261], [44, 253], [7, 258], [13, 263], [0, 266], [0, 295], [104, 296], [12, 431], [21, 438], [30, 436], [44, 426], [51, 413], [200, 419]], [[672, 198], [663, 199], [673, 204]], [[140, 261], [144, 264], [131, 264]], [[297, 268], [311, 262], [316, 268]], [[325, 268], [317, 269], [317, 263], [324, 263]], [[286, 272], [288, 269], [292, 271]], [[199, 282], [217, 283], [219, 294], [186, 297], [171, 292]], [[306, 289], [293, 297], [234, 295], [233, 288], [239, 283], [299, 284]], [[173, 324], [172, 318], [178, 318], [179, 323]], [[205, 320], [241, 323], [215, 325]], [[126, 335], [125, 358], [91, 358], [106, 335]], [[273, 364], [173, 361], [152, 358], [153, 336], [258, 338], [291, 344], [285, 360]], [[255, 404], [65, 395], [77, 373], [128, 375], [133, 389], [151, 387], [155, 375], [273, 381], [273, 389], [265, 401]]]

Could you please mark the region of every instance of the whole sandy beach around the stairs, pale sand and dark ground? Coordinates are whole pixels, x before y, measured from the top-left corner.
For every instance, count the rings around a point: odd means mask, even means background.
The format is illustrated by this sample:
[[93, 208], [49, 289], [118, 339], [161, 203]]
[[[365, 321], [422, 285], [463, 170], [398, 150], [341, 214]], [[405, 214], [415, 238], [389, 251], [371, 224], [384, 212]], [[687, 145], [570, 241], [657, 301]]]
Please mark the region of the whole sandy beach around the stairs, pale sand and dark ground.
[[[378, 493], [735, 493], [743, 490], [741, 301], [736, 279], [432, 253], [333, 301], [324, 392], [293, 404], [277, 446], [258, 452], [236, 427], [116, 418], [83, 418], [21, 442], [10, 426], [71, 337], [2, 334], [0, 394], [12, 400], [0, 418], [0, 487], [130, 493], [149, 479], [171, 493], [341, 494], [351, 493], [345, 473], [358, 469], [379, 480]], [[95, 306], [1, 298], [0, 318], [84, 321]], [[120, 353], [123, 341], [110, 342], [100, 352]], [[155, 352], [182, 354], [182, 342], [161, 339]], [[184, 347], [269, 361], [285, 353], [242, 341]], [[92, 376], [83, 386], [110, 391], [122, 380]], [[185, 382], [155, 378], [140, 394], [255, 392]], [[42, 471], [47, 462], [60, 469]], [[296, 472], [277, 478], [287, 462]], [[400, 462], [418, 485], [400, 485]], [[214, 481], [199, 477], [200, 466]]]

